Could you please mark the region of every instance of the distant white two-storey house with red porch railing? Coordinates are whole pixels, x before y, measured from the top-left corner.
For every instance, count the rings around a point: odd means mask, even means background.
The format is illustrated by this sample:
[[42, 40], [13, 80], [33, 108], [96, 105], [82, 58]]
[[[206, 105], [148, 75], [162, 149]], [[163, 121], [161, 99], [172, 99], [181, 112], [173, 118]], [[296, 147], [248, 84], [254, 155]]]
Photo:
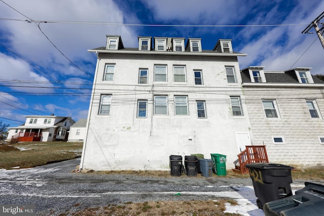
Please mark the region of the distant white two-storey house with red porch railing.
[[7, 141], [66, 141], [67, 131], [75, 123], [71, 117], [25, 116], [26, 122], [17, 127], [9, 127]]

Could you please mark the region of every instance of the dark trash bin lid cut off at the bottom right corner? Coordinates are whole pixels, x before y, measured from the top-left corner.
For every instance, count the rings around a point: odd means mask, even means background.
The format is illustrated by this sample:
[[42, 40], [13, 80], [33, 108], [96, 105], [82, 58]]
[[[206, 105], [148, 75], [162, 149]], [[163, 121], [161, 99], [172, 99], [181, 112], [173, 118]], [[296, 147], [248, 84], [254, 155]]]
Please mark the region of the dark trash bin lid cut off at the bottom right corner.
[[263, 206], [266, 216], [323, 215], [324, 185], [305, 182], [305, 188], [296, 195], [267, 202]]

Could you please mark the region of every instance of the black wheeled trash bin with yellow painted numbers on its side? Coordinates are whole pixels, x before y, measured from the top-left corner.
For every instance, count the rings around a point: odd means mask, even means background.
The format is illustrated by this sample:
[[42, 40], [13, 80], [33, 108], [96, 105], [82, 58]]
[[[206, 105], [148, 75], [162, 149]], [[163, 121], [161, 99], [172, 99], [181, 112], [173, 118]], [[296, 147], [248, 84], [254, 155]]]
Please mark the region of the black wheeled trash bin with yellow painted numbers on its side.
[[290, 184], [293, 182], [294, 167], [277, 163], [250, 163], [246, 167], [249, 168], [260, 209], [266, 202], [293, 195]]

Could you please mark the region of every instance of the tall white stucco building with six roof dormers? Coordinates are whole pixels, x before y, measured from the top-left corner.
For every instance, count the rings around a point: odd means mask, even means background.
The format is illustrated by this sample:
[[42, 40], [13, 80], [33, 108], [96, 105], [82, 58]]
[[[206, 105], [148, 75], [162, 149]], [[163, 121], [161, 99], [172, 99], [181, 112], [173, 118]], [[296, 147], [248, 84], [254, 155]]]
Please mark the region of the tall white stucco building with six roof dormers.
[[[186, 43], [185, 43], [186, 41]], [[252, 134], [231, 40], [107, 35], [97, 54], [80, 168], [168, 170], [170, 155], [237, 154]], [[152, 44], [154, 45], [152, 47]]]

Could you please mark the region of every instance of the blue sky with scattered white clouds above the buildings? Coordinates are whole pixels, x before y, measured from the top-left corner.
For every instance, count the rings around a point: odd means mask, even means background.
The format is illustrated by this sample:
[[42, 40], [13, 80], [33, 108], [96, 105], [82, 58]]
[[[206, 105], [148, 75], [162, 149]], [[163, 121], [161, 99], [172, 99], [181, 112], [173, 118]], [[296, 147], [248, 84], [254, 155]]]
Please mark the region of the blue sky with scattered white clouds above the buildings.
[[324, 0], [0, 0], [0, 120], [87, 118], [96, 66], [87, 50], [105, 46], [106, 34], [121, 35], [125, 47], [137, 47], [138, 36], [201, 38], [207, 50], [232, 39], [248, 54], [241, 69], [324, 74], [314, 29], [301, 33], [323, 10]]

